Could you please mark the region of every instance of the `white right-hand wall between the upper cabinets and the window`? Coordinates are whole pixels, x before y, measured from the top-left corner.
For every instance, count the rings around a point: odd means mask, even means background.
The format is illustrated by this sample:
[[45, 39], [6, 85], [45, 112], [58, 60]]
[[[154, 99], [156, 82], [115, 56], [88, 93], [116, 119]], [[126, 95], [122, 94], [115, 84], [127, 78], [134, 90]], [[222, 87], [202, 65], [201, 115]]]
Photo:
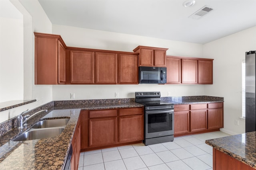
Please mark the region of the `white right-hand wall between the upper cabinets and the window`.
[[[245, 132], [242, 121], [242, 60], [246, 51], [256, 50], [256, 27], [212, 41], [203, 46], [204, 57], [213, 58], [212, 86], [205, 94], [224, 97], [224, 129], [230, 134]], [[235, 120], [239, 125], [235, 125]]]

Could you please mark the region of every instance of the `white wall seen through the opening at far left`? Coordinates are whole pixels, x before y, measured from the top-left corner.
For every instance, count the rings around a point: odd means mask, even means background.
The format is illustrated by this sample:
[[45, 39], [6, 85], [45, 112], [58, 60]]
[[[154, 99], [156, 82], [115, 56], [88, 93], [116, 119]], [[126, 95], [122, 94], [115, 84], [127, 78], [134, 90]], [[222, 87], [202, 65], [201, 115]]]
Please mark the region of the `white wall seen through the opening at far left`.
[[23, 100], [23, 16], [8, 0], [0, 9], [0, 102]]

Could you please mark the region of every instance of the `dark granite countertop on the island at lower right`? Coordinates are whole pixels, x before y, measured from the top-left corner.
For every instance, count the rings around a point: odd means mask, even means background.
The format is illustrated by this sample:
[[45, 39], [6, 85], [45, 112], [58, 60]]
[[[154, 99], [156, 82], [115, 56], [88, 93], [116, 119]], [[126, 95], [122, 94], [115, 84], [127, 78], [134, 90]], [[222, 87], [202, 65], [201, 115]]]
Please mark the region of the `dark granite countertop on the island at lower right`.
[[214, 149], [256, 169], [256, 132], [243, 133], [205, 141]]

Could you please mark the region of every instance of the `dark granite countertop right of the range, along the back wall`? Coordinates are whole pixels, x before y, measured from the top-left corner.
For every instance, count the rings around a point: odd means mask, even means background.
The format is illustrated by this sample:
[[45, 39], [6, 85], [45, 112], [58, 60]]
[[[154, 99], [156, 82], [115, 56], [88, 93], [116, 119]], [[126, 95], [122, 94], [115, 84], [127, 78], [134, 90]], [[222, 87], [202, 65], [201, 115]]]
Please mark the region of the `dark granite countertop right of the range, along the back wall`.
[[222, 97], [214, 96], [177, 96], [162, 97], [161, 100], [175, 104], [200, 104], [200, 103], [218, 103], [224, 102]]

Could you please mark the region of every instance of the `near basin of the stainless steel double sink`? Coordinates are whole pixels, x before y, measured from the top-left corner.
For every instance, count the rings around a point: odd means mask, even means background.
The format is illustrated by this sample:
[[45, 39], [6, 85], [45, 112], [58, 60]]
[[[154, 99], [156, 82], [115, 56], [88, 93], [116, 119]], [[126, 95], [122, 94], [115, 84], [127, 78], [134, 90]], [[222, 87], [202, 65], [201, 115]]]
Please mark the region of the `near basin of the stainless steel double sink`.
[[22, 133], [13, 141], [28, 141], [34, 139], [44, 139], [48, 137], [55, 137], [64, 131], [64, 127], [48, 128], [48, 129], [34, 129]]

